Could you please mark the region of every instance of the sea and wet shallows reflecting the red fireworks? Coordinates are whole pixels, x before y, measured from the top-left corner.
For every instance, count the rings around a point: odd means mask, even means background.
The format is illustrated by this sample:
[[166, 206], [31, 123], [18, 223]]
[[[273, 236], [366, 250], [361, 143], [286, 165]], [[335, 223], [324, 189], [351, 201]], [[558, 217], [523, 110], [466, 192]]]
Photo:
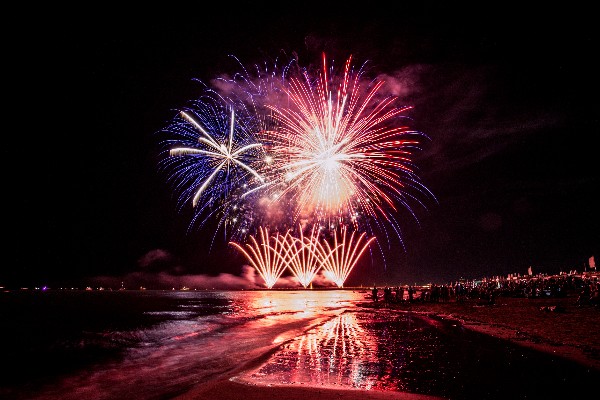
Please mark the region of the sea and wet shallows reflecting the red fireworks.
[[367, 292], [3, 292], [0, 398], [170, 399], [245, 365], [255, 383], [453, 399], [575, 395], [599, 378], [450, 320], [374, 313]]

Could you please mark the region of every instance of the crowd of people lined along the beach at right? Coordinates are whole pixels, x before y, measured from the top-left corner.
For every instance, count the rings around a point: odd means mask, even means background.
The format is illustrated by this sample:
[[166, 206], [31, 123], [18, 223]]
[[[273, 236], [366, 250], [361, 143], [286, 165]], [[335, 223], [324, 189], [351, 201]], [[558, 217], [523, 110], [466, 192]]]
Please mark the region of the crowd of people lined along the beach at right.
[[461, 280], [452, 284], [424, 286], [402, 285], [371, 289], [371, 298], [385, 304], [400, 302], [449, 302], [477, 299], [494, 304], [499, 296], [566, 297], [574, 296], [578, 306], [600, 308], [600, 273], [568, 273], [559, 275], [525, 275], [507, 278]]

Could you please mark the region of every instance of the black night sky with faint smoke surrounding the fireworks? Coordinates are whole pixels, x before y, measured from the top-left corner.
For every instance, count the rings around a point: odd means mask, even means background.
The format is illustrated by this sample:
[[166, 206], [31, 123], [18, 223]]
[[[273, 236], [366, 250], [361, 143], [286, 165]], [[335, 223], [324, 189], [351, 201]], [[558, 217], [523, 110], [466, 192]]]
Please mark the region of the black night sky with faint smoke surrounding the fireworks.
[[365, 259], [348, 284], [582, 270], [600, 245], [594, 13], [434, 4], [23, 22], [4, 49], [0, 286], [235, 280], [239, 255], [188, 233], [156, 132], [198, 96], [195, 79], [239, 72], [231, 55], [252, 65], [282, 52], [368, 61], [405, 84], [413, 127], [431, 138], [415, 161], [438, 203], [403, 221], [404, 250]]

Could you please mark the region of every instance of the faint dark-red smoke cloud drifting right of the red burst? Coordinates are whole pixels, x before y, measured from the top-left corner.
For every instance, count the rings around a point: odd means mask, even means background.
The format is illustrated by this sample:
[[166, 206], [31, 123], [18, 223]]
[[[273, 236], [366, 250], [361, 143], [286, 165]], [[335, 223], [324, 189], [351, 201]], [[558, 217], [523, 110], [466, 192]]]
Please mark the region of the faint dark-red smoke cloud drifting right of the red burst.
[[456, 171], [561, 126], [565, 116], [535, 87], [487, 65], [408, 65], [381, 74], [382, 90], [412, 109], [410, 127], [431, 139], [428, 171]]

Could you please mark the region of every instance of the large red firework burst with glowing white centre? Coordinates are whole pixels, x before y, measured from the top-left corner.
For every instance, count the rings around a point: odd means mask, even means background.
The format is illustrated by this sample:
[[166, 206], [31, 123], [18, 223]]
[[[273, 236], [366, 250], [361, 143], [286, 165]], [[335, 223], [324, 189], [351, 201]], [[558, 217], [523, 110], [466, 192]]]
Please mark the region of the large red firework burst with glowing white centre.
[[267, 104], [276, 129], [259, 140], [273, 157], [271, 198], [291, 203], [294, 220], [364, 230], [383, 219], [400, 237], [400, 207], [415, 216], [411, 204], [423, 203], [413, 192], [433, 197], [411, 162], [424, 135], [403, 123], [411, 107], [381, 98], [384, 82], [366, 83], [351, 60], [338, 76], [323, 55], [316, 79], [299, 71], [281, 88], [287, 101]]

